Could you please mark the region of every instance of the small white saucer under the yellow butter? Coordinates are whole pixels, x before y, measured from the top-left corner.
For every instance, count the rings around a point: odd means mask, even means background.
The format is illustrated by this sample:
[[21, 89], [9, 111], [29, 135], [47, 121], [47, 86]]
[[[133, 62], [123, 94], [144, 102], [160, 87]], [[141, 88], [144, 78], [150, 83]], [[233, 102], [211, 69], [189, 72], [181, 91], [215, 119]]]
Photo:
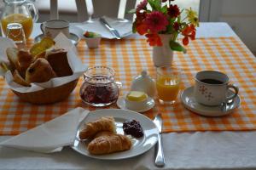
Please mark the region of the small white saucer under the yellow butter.
[[[119, 106], [120, 109], [131, 110], [131, 109], [128, 109], [125, 107], [125, 97], [123, 97], [123, 96], [119, 97], [116, 104]], [[148, 97], [147, 106], [145, 108], [143, 108], [141, 110], [131, 110], [131, 111], [145, 112], [145, 111], [152, 109], [153, 107], [154, 107], [154, 99]]]

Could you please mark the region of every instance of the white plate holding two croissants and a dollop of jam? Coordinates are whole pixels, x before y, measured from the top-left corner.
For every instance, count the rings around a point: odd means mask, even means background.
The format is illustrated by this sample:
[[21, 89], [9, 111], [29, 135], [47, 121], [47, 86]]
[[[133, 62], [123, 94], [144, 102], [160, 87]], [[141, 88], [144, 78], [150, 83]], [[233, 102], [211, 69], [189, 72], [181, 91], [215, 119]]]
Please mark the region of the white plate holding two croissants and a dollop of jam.
[[[80, 142], [78, 140], [79, 132], [84, 127], [84, 123], [93, 122], [102, 116], [113, 116], [116, 122], [117, 133], [120, 133], [120, 134], [124, 134], [123, 128], [122, 128], [123, 122], [131, 119], [136, 119], [138, 122], [140, 122], [141, 126], [143, 127], [144, 136], [138, 139], [136, 138], [131, 139], [132, 141], [131, 150], [116, 152], [113, 154], [102, 155], [102, 156], [91, 155], [86, 149], [85, 142]], [[84, 156], [89, 156], [89, 157], [93, 157], [101, 160], [119, 160], [119, 159], [125, 159], [133, 156], [138, 156], [148, 151], [157, 142], [158, 134], [159, 134], [159, 131], [157, 127], [154, 125], [154, 122], [152, 122], [147, 116], [143, 116], [137, 112], [120, 110], [120, 109], [96, 110], [96, 111], [91, 111], [90, 114], [86, 116], [85, 119], [79, 124], [77, 139], [75, 139], [72, 148], [73, 150], [76, 150], [77, 152], [79, 152]]]

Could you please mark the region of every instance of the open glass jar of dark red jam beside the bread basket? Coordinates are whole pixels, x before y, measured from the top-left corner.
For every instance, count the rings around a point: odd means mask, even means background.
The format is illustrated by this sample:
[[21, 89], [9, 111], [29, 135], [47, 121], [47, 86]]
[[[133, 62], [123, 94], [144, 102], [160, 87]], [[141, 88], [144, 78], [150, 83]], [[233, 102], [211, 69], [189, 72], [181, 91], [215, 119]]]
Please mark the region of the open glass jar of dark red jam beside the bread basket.
[[88, 68], [84, 72], [80, 97], [87, 105], [106, 106], [115, 103], [119, 97], [119, 86], [114, 82], [113, 69], [106, 66]]

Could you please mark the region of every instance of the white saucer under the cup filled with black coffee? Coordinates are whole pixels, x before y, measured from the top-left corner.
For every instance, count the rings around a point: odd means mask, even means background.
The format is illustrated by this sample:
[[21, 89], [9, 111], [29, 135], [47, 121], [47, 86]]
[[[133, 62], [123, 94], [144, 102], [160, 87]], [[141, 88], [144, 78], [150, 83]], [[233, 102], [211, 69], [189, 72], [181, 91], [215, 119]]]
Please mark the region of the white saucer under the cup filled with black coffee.
[[[241, 104], [241, 99], [239, 95], [236, 96], [232, 102], [227, 105], [218, 105], [218, 106], [207, 106], [201, 105], [195, 101], [195, 97], [193, 95], [194, 87], [184, 89], [183, 93], [180, 95], [180, 98], [183, 102], [183, 105], [199, 115], [202, 116], [224, 116], [230, 114]], [[229, 90], [228, 95], [234, 94], [233, 91]]]

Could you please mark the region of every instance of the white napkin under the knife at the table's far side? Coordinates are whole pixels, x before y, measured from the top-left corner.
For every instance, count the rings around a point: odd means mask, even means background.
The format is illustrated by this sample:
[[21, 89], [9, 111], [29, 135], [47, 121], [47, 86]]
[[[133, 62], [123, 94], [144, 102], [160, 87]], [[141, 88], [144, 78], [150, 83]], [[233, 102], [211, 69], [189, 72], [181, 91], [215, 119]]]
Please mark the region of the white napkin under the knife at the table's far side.
[[[108, 24], [112, 26], [114, 29], [119, 31], [120, 37], [126, 37], [131, 35], [132, 33], [132, 22], [130, 20], [121, 20], [121, 19], [112, 19], [107, 16], [103, 16]], [[115, 38], [113, 34], [108, 31], [108, 29], [102, 25], [102, 23], [99, 21], [99, 19], [93, 20], [92, 23], [82, 23], [76, 25], [79, 28], [81, 28], [84, 32], [85, 31], [94, 31], [96, 33], [99, 33], [104, 38], [113, 39]]]

